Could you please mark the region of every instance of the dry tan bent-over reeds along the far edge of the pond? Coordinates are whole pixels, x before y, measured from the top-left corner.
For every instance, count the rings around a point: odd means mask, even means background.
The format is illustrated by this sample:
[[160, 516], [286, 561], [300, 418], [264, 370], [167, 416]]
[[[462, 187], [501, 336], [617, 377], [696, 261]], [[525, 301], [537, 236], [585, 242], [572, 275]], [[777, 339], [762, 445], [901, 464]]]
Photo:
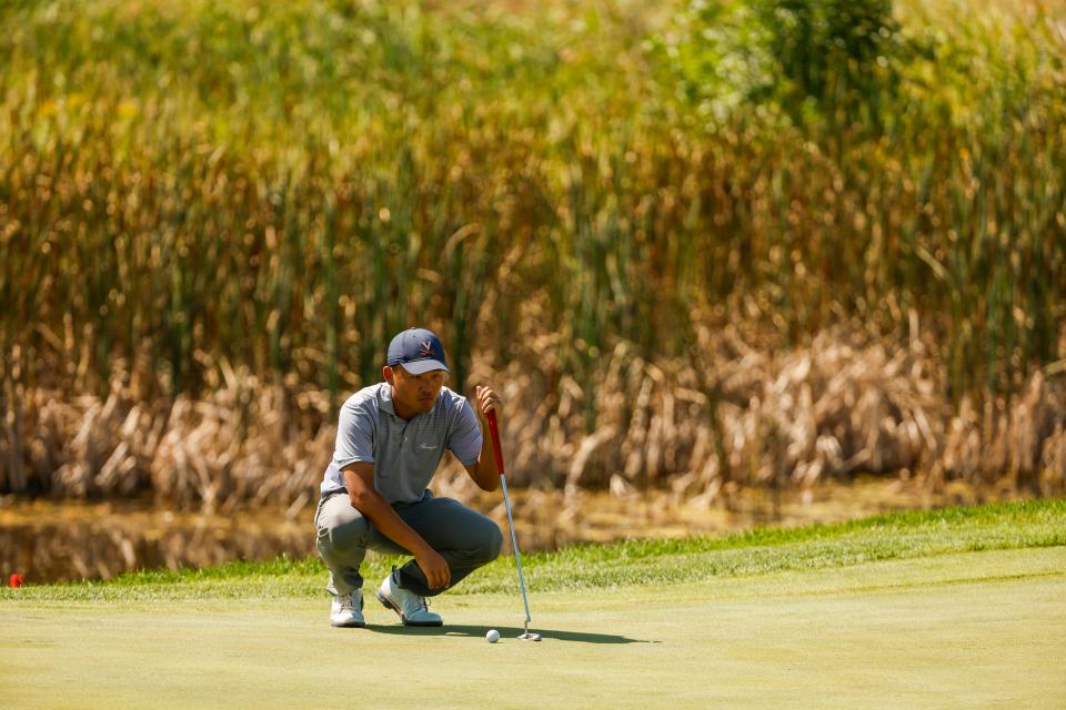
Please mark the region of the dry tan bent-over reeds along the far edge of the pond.
[[[767, 353], [734, 327], [701, 328], [690, 361], [648, 362], [623, 344], [589, 382], [553, 369], [552, 339], [523, 337], [527, 352], [512, 364], [475, 359], [471, 374], [507, 403], [509, 474], [519, 486], [571, 496], [670, 489], [710, 504], [737, 486], [811, 486], [866, 471], [934, 487], [963, 479], [1066, 490], [1066, 378], [1056, 368], [1034, 374], [1017, 397], [989, 398], [980, 410], [966, 400], [953, 414], [944, 367], [917, 337], [893, 348], [823, 333], [809, 347]], [[143, 402], [135, 385], [120, 384], [138, 379], [124, 374], [105, 398], [26, 390], [7, 378], [0, 493], [150, 495], [173, 509], [266, 506], [296, 518], [332, 455], [325, 395], [220, 371], [218, 389], [172, 403]], [[466, 495], [464, 479], [450, 460], [436, 486]]]

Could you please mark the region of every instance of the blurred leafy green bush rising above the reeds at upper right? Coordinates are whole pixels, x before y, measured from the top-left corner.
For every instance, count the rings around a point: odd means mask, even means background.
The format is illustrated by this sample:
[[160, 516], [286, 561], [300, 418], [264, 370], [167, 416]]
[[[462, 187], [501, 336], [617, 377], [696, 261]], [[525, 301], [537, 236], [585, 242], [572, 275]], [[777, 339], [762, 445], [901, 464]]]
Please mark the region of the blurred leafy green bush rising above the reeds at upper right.
[[738, 115], [875, 128], [908, 51], [891, 0], [693, 0], [648, 47], [712, 131]]

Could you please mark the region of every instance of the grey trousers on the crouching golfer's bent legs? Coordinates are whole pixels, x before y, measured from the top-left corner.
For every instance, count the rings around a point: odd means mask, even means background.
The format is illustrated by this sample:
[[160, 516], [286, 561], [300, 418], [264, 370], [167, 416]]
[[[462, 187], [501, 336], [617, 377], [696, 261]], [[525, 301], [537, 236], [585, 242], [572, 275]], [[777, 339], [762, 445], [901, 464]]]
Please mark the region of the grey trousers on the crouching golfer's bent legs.
[[[500, 527], [457, 500], [434, 498], [426, 490], [418, 503], [396, 503], [392, 508], [447, 562], [451, 569], [447, 589], [500, 556], [503, 546]], [[411, 554], [385, 537], [369, 518], [353, 508], [348, 494], [343, 491], [328, 495], [319, 501], [314, 527], [319, 534], [319, 555], [330, 569], [326, 590], [334, 595], [350, 595], [362, 588], [363, 577], [359, 568], [366, 557], [366, 550], [384, 555]], [[413, 559], [398, 571], [403, 589], [423, 597], [445, 591], [430, 589], [422, 568]]]

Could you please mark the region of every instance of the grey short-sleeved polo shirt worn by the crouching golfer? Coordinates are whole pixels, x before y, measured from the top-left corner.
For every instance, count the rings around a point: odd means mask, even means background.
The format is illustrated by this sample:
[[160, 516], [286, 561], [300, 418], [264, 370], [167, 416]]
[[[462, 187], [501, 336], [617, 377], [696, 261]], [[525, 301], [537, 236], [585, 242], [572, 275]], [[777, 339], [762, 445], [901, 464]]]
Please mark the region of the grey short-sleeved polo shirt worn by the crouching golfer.
[[481, 427], [466, 402], [447, 387], [426, 414], [396, 416], [392, 387], [383, 382], [360, 389], [341, 407], [333, 460], [325, 469], [322, 495], [344, 486], [341, 469], [355, 462], [374, 465], [374, 488], [389, 503], [422, 498], [444, 449], [464, 466], [477, 463]]

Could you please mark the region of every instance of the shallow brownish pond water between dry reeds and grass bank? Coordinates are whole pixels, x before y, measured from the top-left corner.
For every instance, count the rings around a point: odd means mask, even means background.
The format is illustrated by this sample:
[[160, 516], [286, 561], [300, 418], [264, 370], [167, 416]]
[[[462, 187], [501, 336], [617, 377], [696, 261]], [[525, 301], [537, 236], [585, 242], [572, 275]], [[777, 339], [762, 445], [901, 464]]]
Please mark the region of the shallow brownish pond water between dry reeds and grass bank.
[[[948, 484], [938, 491], [918, 481], [858, 479], [775, 496], [732, 489], [714, 501], [668, 491], [513, 490], [523, 551], [587, 541], [723, 535], [760, 526], [797, 526], [887, 510], [1014, 499], [1009, 490]], [[500, 494], [462, 499], [506, 530]], [[0, 580], [27, 584], [109, 579], [135, 569], [205, 567], [224, 561], [314, 555], [313, 508], [230, 515], [173, 513], [135, 503], [59, 503], [0, 498]], [[509, 537], [505, 535], [505, 539]]]

